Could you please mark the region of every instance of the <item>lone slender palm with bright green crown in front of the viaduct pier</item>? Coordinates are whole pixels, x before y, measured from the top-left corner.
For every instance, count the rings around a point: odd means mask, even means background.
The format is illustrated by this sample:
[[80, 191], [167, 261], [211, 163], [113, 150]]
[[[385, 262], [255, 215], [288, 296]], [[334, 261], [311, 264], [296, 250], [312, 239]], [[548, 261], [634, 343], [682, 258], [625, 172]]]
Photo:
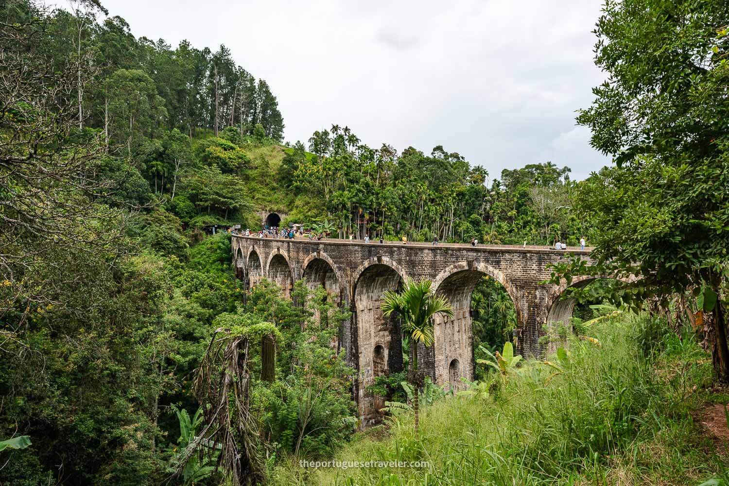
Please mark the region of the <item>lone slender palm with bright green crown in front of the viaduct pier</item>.
[[418, 375], [418, 344], [425, 348], [433, 345], [433, 317], [437, 314], [453, 316], [453, 307], [444, 297], [436, 297], [428, 280], [408, 281], [400, 292], [386, 291], [383, 294], [382, 312], [385, 317], [397, 314], [402, 318], [402, 329], [410, 336], [413, 349], [413, 384], [415, 412], [415, 432], [418, 434], [418, 388], [421, 377]]

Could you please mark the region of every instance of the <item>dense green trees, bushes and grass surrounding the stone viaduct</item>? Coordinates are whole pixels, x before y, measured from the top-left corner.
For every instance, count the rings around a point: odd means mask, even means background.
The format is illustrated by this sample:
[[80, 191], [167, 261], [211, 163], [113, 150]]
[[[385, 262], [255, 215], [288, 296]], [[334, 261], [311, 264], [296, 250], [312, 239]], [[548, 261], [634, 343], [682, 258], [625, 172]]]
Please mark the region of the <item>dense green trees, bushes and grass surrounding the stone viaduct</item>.
[[[552, 162], [490, 175], [443, 146], [370, 148], [339, 125], [284, 144], [272, 87], [225, 46], [136, 38], [97, 0], [0, 2], [0, 483], [728, 482], [700, 425], [729, 401], [725, 7], [607, 0], [611, 77], [578, 122], [616, 163], [572, 181]], [[408, 370], [381, 380], [386, 426], [357, 434], [355, 371], [331, 345], [348, 310], [303, 283], [244, 291], [230, 235], [210, 234], [257, 230], [259, 211], [341, 237], [584, 235], [596, 266], [555, 281], [641, 279], [572, 291], [547, 364], [479, 363], [460, 395], [426, 384], [419, 435]], [[507, 292], [484, 278], [472, 310], [475, 357], [507, 356]]]

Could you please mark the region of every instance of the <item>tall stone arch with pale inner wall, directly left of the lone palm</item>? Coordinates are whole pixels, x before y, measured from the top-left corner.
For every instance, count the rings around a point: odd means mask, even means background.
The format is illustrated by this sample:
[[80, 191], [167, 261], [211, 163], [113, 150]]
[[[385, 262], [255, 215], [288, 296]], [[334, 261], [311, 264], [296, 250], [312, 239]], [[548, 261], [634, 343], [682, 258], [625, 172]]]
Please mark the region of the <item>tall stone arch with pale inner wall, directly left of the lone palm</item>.
[[[359, 416], [364, 424], [381, 418], [375, 397], [367, 391], [367, 387], [375, 382], [375, 367], [378, 367], [379, 373], [382, 372], [379, 361], [386, 364], [388, 373], [402, 370], [399, 321], [385, 318], [381, 306], [385, 291], [397, 291], [406, 279], [402, 268], [386, 256], [368, 259], [356, 270], [352, 279], [355, 356], [360, 370], [355, 393]], [[379, 356], [375, 356], [375, 348]]]

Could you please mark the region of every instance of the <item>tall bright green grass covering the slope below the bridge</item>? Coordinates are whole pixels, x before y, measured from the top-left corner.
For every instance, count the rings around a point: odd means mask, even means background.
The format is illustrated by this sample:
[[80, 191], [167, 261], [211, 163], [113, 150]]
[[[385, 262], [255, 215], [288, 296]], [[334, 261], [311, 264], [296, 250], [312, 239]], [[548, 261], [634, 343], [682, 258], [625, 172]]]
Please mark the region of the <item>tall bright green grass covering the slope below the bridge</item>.
[[[273, 482], [312, 485], [698, 485], [715, 473], [690, 411], [712, 380], [707, 355], [647, 317], [569, 342], [564, 372], [527, 361], [488, 399], [452, 396], [348, 444], [338, 460], [428, 461], [421, 469], [305, 470]], [[383, 434], [380, 434], [382, 436]]]

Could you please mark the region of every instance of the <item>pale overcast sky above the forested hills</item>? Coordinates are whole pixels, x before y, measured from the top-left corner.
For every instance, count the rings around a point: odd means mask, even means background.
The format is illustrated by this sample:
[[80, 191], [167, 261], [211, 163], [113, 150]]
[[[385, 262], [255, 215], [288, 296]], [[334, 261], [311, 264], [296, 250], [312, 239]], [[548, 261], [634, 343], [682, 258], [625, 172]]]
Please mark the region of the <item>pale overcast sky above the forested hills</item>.
[[443, 145], [492, 178], [551, 160], [583, 179], [609, 163], [574, 124], [604, 79], [601, 0], [102, 3], [135, 36], [225, 44], [268, 81], [287, 141], [348, 125], [375, 148]]

